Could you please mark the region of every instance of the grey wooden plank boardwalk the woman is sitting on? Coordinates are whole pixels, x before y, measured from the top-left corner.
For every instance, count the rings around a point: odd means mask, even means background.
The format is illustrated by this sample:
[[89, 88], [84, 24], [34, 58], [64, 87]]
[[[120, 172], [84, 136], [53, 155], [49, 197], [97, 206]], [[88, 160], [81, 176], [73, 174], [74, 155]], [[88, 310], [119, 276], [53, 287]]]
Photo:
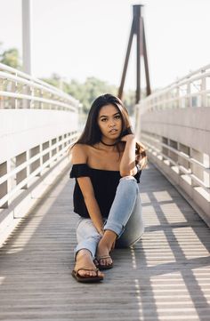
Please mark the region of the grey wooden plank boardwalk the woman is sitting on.
[[70, 275], [77, 215], [64, 173], [0, 249], [0, 320], [210, 320], [210, 231], [152, 166], [142, 173], [146, 231], [115, 250], [103, 283]]

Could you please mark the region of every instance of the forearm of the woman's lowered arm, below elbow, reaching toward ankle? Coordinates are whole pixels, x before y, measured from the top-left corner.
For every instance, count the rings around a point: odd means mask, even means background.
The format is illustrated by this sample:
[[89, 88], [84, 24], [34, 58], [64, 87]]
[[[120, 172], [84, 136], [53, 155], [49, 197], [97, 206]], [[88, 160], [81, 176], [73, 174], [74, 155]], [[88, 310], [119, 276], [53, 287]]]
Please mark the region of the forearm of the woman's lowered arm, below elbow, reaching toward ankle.
[[90, 215], [90, 218], [93, 221], [93, 225], [95, 229], [97, 229], [98, 232], [101, 233], [101, 230], [103, 229], [103, 219], [102, 219], [99, 205], [95, 197], [93, 196], [85, 197], [85, 205]]

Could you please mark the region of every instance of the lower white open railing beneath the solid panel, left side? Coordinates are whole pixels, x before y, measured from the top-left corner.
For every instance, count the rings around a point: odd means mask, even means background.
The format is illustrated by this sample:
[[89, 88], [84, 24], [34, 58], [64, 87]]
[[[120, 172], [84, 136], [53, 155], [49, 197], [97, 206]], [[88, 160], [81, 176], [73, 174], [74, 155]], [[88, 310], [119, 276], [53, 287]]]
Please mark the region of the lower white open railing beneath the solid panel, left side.
[[77, 132], [69, 132], [21, 152], [0, 164], [0, 208], [11, 202], [49, 171], [53, 165], [68, 156], [69, 147], [77, 140]]

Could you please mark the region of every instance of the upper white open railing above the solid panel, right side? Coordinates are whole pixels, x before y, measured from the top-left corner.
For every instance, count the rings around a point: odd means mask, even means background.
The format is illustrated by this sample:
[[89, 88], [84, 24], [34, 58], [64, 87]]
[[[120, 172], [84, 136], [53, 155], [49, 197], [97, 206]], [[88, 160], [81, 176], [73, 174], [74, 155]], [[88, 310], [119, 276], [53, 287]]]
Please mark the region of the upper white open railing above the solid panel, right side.
[[191, 72], [141, 101], [141, 114], [166, 108], [210, 106], [210, 65]]

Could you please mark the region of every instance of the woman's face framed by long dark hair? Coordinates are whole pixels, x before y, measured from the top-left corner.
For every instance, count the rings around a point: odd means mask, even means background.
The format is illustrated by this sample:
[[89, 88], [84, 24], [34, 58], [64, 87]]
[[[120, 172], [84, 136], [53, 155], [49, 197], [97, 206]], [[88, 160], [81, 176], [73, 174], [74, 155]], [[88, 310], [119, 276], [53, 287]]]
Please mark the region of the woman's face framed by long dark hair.
[[117, 140], [122, 131], [122, 116], [114, 105], [106, 105], [99, 112], [98, 124], [103, 139]]

